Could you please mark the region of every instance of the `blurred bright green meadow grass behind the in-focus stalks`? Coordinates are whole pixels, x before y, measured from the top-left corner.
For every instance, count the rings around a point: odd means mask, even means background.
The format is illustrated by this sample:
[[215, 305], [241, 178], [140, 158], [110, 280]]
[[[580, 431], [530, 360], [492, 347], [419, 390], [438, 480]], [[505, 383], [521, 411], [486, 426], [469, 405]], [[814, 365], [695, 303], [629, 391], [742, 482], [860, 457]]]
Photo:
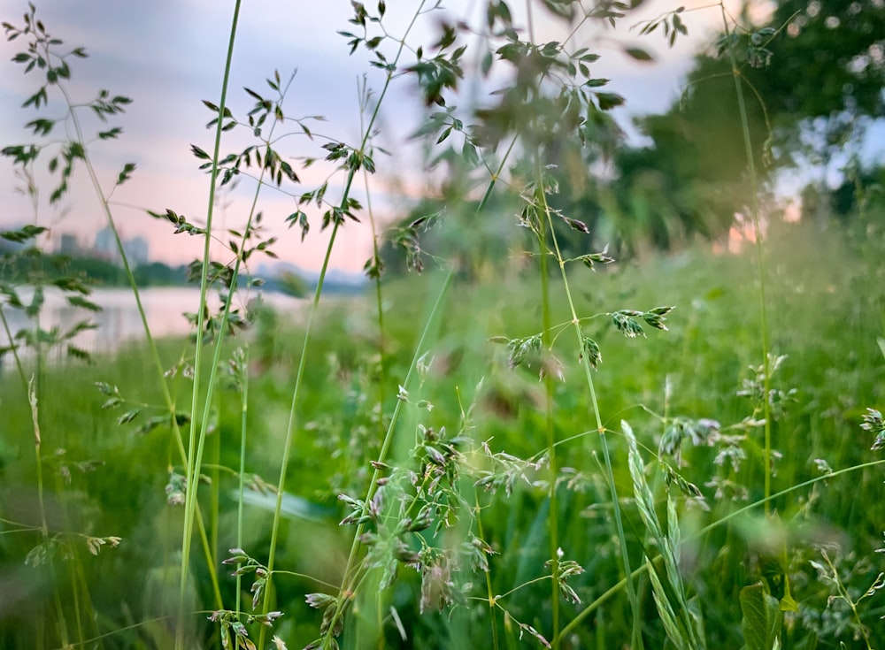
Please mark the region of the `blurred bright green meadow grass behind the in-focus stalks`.
[[[840, 470], [877, 458], [869, 451], [872, 440], [859, 429], [859, 424], [865, 409], [881, 404], [882, 400], [883, 360], [876, 345], [881, 336], [881, 290], [871, 287], [862, 296], [852, 293], [852, 284], [869, 270], [854, 261], [838, 241], [827, 244], [827, 256], [841, 260], [840, 264], [822, 268], [818, 262], [820, 248], [812, 246], [815, 239], [810, 229], [791, 226], [771, 243], [773, 257], [779, 260], [772, 265], [769, 280], [773, 350], [788, 355], [773, 375], [773, 387], [784, 391], [797, 389], [773, 426], [773, 448], [781, 454], [773, 477], [774, 493], [820, 476], [814, 464], [816, 459]], [[604, 361], [594, 379], [602, 405], [601, 417], [611, 431], [613, 464], [619, 493], [625, 499], [622, 506], [634, 566], [638, 566], [638, 543], [644, 534], [628, 496], [632, 488], [627, 473], [627, 448], [619, 435], [620, 420], [631, 423], [648, 463], [657, 453], [665, 426], [659, 417], [706, 417], [726, 427], [750, 415], [750, 400], [736, 392], [742, 387], [742, 380], [750, 377], [747, 366], [758, 365], [758, 316], [751, 278], [747, 258], [712, 256], [699, 249], [596, 275], [581, 269], [571, 278], [576, 287], [589, 280], [594, 283], [592, 297], [581, 295], [579, 299], [581, 313], [600, 310], [602, 305], [640, 310], [658, 303], [677, 306], [668, 318], [671, 332], [650, 333], [647, 340], [625, 339], [604, 319], [587, 330], [598, 331], [596, 340], [603, 352]], [[537, 367], [508, 368], [504, 348], [489, 342], [494, 336], [512, 338], [533, 332], [538, 322], [538, 305], [530, 297], [532, 281], [513, 278], [505, 286], [453, 287], [438, 336], [429, 348], [427, 358], [432, 356], [433, 363], [419, 388], [410, 394], [412, 401], [427, 400], [435, 408], [430, 412], [418, 408], [404, 411], [405, 419], [396, 432], [389, 463], [412, 462], [414, 427], [419, 423], [437, 430], [442, 426], [457, 430], [458, 399], [466, 406], [474, 398], [469, 430], [474, 443], [488, 441], [491, 451], [506, 451], [520, 458], [543, 454], [547, 447], [544, 398]], [[434, 284], [430, 273], [397, 280], [385, 287], [389, 301], [388, 395], [396, 394], [396, 383], [404, 378], [419, 334], [415, 325], [426, 315], [427, 306], [416, 301], [415, 296], [426, 294]], [[563, 298], [556, 292], [551, 296], [551, 310], [554, 323], [566, 314]], [[304, 409], [286, 486], [288, 493], [304, 500], [299, 502], [301, 505], [309, 504], [312, 518], [284, 516], [277, 567], [335, 584], [341, 580], [350, 536], [347, 527], [337, 525], [344, 510], [336, 496], [339, 491], [359, 494], [365, 490], [371, 470], [367, 463], [380, 444], [378, 422], [371, 409], [373, 394], [378, 390], [377, 333], [373, 331], [368, 306], [329, 308], [320, 318], [322, 326], [305, 366]], [[261, 335], [266, 339], [253, 340], [253, 348], [266, 345], [271, 333], [265, 331]], [[263, 360], [265, 367], [250, 379], [252, 417], [247, 474], [258, 474], [268, 482], [276, 469], [285, 435], [289, 412], [287, 385], [296, 364], [298, 339], [298, 333], [273, 330], [273, 358]], [[554, 350], [564, 364], [566, 377], [566, 382], [555, 383], [553, 393], [553, 424], [557, 440], [564, 440], [558, 445], [558, 465], [565, 472], [564, 483], [558, 488], [559, 546], [567, 559], [576, 560], [584, 568], [584, 573], [574, 577], [570, 584], [586, 605], [623, 576], [617, 562], [617, 544], [612, 543], [611, 499], [602, 478], [601, 460], [596, 457], [596, 424], [587, 417], [587, 398], [577, 381], [577, 359], [564, 345], [558, 344]], [[334, 363], [330, 353], [335, 355]], [[181, 344], [170, 343], [164, 347], [164, 362], [172, 365], [180, 354]], [[86, 631], [85, 638], [96, 636], [96, 631], [113, 631], [104, 640], [105, 647], [140, 647], [145, 643], [150, 646], [150, 639], [158, 645], [162, 645], [162, 639], [168, 641], [164, 635], [171, 633], [172, 621], [151, 619], [173, 613], [169, 602], [174, 602], [177, 585], [174, 557], [181, 509], [165, 503], [164, 488], [169, 467], [178, 463], [176, 452], [162, 430], [135, 436], [137, 421], [116, 424], [119, 411], [102, 410], [103, 396], [93, 387], [94, 382], [104, 381], [120, 386], [124, 395], [139, 395], [140, 401], [158, 401], [154, 384], [142, 372], [145, 363], [148, 358], [135, 350], [101, 358], [95, 367], [71, 363], [46, 372], [46, 397], [40, 404], [43, 451], [47, 457], [64, 458], [71, 473], [71, 482], [66, 484], [52, 471], [60, 461], [44, 463], [49, 475], [45, 480], [50, 529], [88, 531], [96, 536], [115, 535], [123, 539], [118, 548], [104, 549], [97, 557], [89, 556], [84, 545], [73, 543], [73, 561], [57, 563], [61, 571], [56, 576], [56, 585], [45, 578], [22, 577], [23, 572], [39, 573], [22, 565], [30, 548], [39, 542], [39, 533], [12, 532], [19, 524], [39, 525], [34, 518], [33, 434], [21, 386], [12, 373], [4, 373], [0, 399], [4, 409], [3, 510], [7, 521], [0, 548], [8, 579], [17, 585], [28, 585], [27, 589], [22, 588], [21, 600], [4, 610], [4, 646], [28, 646], [27, 639], [33, 639], [39, 634], [37, 628], [46, 624], [45, 615], [35, 613], [51, 609], [50, 594], [56, 589], [68, 593], [73, 589], [70, 585], [81, 585], [77, 589], [82, 594], [87, 593], [84, 587], [88, 587], [91, 608], [96, 612], [96, 630]], [[481, 391], [474, 394], [480, 379]], [[668, 394], [665, 386], [669, 386]], [[181, 391], [187, 394], [187, 386], [181, 386]], [[212, 517], [212, 525], [217, 525], [222, 554], [227, 547], [235, 546], [235, 473], [240, 444], [237, 403], [230, 391], [219, 395], [218, 427], [207, 442], [207, 459], [218, 445], [220, 464], [234, 472], [214, 472], [208, 466], [204, 470], [219, 486], [218, 513]], [[395, 403], [392, 397], [387, 401], [385, 414]], [[701, 489], [710, 511], [681, 511], [682, 539], [686, 540], [681, 569], [689, 595], [698, 595], [702, 602], [707, 643], [712, 647], [728, 646], [739, 638], [741, 611], [736, 604], [737, 593], [760, 577], [758, 558], [764, 552], [759, 539], [766, 523], [757, 508], [728, 525], [692, 538], [694, 531], [704, 525], [715, 524], [735, 509], [762, 498], [760, 435], [759, 428], [753, 428], [748, 439], [737, 445], [746, 459], [736, 471], [714, 463], [719, 447], [693, 447], [685, 443], [682, 448], [685, 464], [681, 474]], [[56, 449], [64, 449], [65, 454], [58, 456]], [[76, 469], [74, 463], [91, 459], [101, 464], [88, 473]], [[468, 464], [479, 462], [478, 456], [469, 455]], [[672, 459], [668, 462], [675, 466]], [[178, 471], [181, 472], [180, 466]], [[717, 476], [732, 481], [746, 501], [716, 499], [710, 481]], [[543, 470], [528, 470], [527, 478], [549, 477]], [[655, 496], [663, 508], [659, 501], [663, 498], [661, 479], [653, 470], [648, 478], [652, 487], [657, 486]], [[572, 479], [573, 484], [567, 485], [566, 479]], [[473, 482], [466, 474], [458, 482], [468, 501], [473, 499], [469, 496]], [[814, 625], [820, 626], [821, 647], [850, 634], [837, 624], [843, 619], [850, 623], [850, 617], [844, 612], [834, 613], [840, 611], [838, 603], [827, 609], [827, 584], [819, 579], [809, 561], [820, 562], [815, 547], [838, 544], [839, 551], [828, 547], [830, 556], [838, 557], [843, 571], [854, 569], [848, 579], [856, 597], [866, 590], [878, 573], [878, 555], [873, 552], [882, 546], [881, 518], [876, 506], [881, 501], [881, 492], [881, 469], [872, 468], [797, 489], [773, 501], [773, 510], [789, 533], [789, 577], [793, 596], [801, 608], [800, 615], [790, 615], [794, 620], [785, 633], [790, 647], [812, 647], [801, 643], [810, 643]], [[206, 509], [210, 509], [210, 503], [204, 500], [209, 496], [209, 491], [201, 496]], [[482, 507], [484, 539], [496, 551], [489, 557], [491, 593], [508, 593], [543, 576], [543, 564], [548, 559], [545, 488], [518, 479], [509, 496], [499, 493], [492, 498], [477, 491], [475, 498]], [[242, 546], [253, 556], [260, 557], [261, 549], [269, 542], [272, 510], [272, 506], [246, 510]], [[464, 534], [469, 517], [465, 513], [459, 516], [463, 517], [462, 524], [454, 530]], [[444, 539], [457, 534], [445, 533], [433, 543], [444, 543]], [[212, 601], [204, 572], [205, 567], [196, 562], [193, 607], [197, 610]], [[481, 608], [474, 606], [455, 608], [451, 615], [433, 610], [419, 615], [419, 576], [405, 567], [399, 572], [401, 579], [391, 588], [385, 603], [395, 607], [402, 620], [409, 639], [404, 646], [458, 647], [464, 639], [488, 633], [488, 612], [483, 615]], [[224, 593], [229, 595], [232, 585], [229, 578], [223, 578]], [[313, 610], [304, 604], [304, 594], [323, 588], [311, 579], [296, 576], [280, 576], [275, 585], [274, 608], [285, 612], [275, 633], [288, 639], [292, 647], [307, 643], [314, 638], [318, 622]], [[542, 580], [506, 596], [502, 604], [509, 616], [545, 633], [551, 616], [547, 585]], [[640, 578], [637, 588], [646, 615], [645, 641], [649, 646], [661, 646], [663, 631], [654, 613], [650, 585]], [[468, 593], [482, 597], [484, 591], [474, 585]], [[348, 634], [371, 629], [375, 616], [371, 601], [363, 604], [368, 611], [358, 608], [350, 615], [363, 623], [349, 628]], [[64, 607], [67, 618], [73, 618], [70, 601], [65, 600]], [[860, 605], [862, 620], [873, 629], [874, 642], [881, 641], [876, 620], [882, 608], [877, 597]], [[581, 606], [565, 603], [562, 609], [565, 624], [581, 611]], [[506, 645], [508, 634], [518, 636], [518, 631], [503, 618], [499, 623]], [[130, 624], [136, 627], [121, 631]], [[627, 638], [630, 629], [626, 595], [617, 593], [569, 635], [577, 635], [586, 644], [605, 639], [604, 645], [608, 645]], [[386, 623], [385, 631], [389, 646], [401, 643], [397, 641], [395, 625]], [[53, 636], [51, 631], [43, 633], [47, 638]], [[210, 633], [205, 626], [203, 634]], [[347, 634], [344, 639], [344, 643], [356, 643]], [[573, 646], [576, 641], [568, 636], [563, 642]]]

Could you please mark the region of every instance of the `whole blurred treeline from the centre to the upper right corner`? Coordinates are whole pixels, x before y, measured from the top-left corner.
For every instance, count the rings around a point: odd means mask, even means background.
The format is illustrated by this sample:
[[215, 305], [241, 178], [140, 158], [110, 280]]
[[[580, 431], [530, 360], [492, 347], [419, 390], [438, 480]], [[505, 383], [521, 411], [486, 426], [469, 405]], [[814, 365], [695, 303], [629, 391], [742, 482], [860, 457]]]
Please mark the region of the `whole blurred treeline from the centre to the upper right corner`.
[[[678, 13], [680, 25], [690, 30], [689, 16]], [[845, 206], [857, 203], [850, 195], [873, 182], [874, 169], [859, 176], [850, 169], [858, 167], [867, 128], [885, 117], [885, 0], [778, 0], [763, 24], [754, 24], [750, 4], [731, 18], [736, 25], [729, 33], [714, 36], [696, 55], [681, 97], [664, 113], [635, 120], [641, 145], [628, 146], [607, 111], [591, 103], [579, 116], [573, 97], [548, 96], [530, 84], [517, 85], [522, 95], [500, 96], [496, 104], [475, 112], [478, 125], [466, 130], [473, 128], [478, 145], [496, 145], [517, 132], [543, 151], [558, 181], [551, 205], [590, 231], [587, 236], [557, 221], [564, 255], [581, 256], [604, 246], [620, 258], [639, 256], [644, 249], [678, 249], [697, 237], [726, 236], [735, 213], [748, 209], [753, 195], [728, 50], [735, 53], [763, 189], [786, 167], [816, 169], [816, 210], [827, 212], [827, 203], [835, 202], [844, 218], [850, 212]], [[550, 59], [532, 56], [525, 59], [533, 64], [527, 79], [543, 78], [546, 71], [535, 68], [539, 61], [550, 65]], [[526, 68], [523, 63], [519, 59], [520, 71]], [[522, 111], [525, 103], [535, 110]], [[523, 124], [523, 114], [543, 119]], [[575, 119], [581, 119], [581, 141], [558, 137], [558, 120]], [[466, 149], [449, 149], [437, 162], [469, 163]], [[475, 155], [473, 149], [469, 153]], [[831, 169], [834, 164], [840, 169]], [[844, 182], [830, 190], [824, 181], [834, 172], [842, 172]], [[437, 199], [412, 210], [389, 237], [392, 248], [407, 251], [407, 259], [397, 262], [389, 248], [389, 269], [419, 268], [428, 250], [448, 243], [463, 249], [462, 269], [475, 274], [517, 241], [512, 221], [478, 223], [475, 202], [463, 200], [476, 195], [477, 188], [470, 186], [466, 172], [453, 177], [460, 179], [458, 187], [442, 188]], [[867, 193], [867, 201], [873, 195]], [[512, 210], [505, 203], [498, 210]], [[440, 221], [448, 225], [422, 220], [428, 215], [443, 215]], [[424, 233], [427, 226], [434, 233]]]

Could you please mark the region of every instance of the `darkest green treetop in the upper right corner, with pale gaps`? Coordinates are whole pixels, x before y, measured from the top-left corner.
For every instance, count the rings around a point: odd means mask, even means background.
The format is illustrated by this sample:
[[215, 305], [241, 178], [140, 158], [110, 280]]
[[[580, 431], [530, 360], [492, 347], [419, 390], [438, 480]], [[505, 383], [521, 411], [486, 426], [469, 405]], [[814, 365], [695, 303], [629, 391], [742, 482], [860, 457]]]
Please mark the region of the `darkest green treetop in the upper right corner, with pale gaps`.
[[771, 65], [746, 71], [773, 116], [783, 163], [856, 151], [885, 117], [885, 3], [781, 0], [767, 26]]

